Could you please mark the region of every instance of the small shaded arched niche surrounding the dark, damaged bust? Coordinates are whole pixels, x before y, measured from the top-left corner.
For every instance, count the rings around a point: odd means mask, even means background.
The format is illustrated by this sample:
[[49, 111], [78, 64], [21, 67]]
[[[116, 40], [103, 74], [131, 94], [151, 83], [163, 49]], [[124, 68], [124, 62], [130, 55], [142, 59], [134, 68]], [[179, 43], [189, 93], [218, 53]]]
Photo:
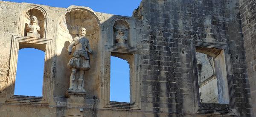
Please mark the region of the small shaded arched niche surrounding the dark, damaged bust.
[[[126, 39], [125, 45], [119, 45], [118, 41], [116, 40], [116, 38], [119, 36], [120, 31], [123, 32], [123, 37], [122, 38]], [[113, 45], [129, 47], [130, 42], [131, 42], [131, 39], [130, 39], [130, 25], [129, 25], [129, 22], [127, 22], [124, 19], [115, 20], [115, 22], [113, 24]]]

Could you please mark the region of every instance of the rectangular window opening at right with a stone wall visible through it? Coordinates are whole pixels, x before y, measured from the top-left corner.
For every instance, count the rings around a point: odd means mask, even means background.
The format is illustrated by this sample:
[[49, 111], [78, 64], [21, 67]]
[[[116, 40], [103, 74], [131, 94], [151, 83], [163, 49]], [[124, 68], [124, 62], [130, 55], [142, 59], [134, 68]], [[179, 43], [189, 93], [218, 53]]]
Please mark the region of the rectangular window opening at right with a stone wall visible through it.
[[227, 68], [223, 49], [196, 47], [201, 103], [229, 103]]

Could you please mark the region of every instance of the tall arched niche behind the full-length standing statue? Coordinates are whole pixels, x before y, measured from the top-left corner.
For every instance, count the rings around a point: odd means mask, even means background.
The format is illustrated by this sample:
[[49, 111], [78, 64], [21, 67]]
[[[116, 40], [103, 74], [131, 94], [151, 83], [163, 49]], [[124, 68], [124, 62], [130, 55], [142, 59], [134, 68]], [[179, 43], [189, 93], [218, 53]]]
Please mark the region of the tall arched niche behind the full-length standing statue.
[[[79, 29], [86, 28], [86, 37], [89, 39], [93, 54], [90, 54], [90, 70], [84, 73], [84, 89], [87, 91], [87, 97], [93, 98], [98, 94], [100, 62], [100, 23], [98, 17], [86, 8], [68, 8], [58, 21], [58, 30], [56, 38], [56, 85], [54, 95], [62, 97], [69, 87], [69, 78], [71, 70], [67, 63], [71, 55], [67, 55], [67, 47], [73, 41], [73, 38], [79, 36]], [[74, 49], [73, 49], [74, 50]], [[73, 54], [73, 53], [72, 53]], [[77, 74], [78, 75], [78, 74]]]

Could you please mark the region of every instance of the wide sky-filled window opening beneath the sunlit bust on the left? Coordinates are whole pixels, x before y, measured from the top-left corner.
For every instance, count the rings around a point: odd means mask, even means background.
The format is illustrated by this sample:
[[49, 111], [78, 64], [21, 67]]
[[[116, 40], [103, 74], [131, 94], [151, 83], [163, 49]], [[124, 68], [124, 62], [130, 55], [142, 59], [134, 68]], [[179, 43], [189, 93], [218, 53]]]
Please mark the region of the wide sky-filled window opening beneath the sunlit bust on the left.
[[14, 95], [42, 96], [45, 52], [34, 48], [20, 49]]

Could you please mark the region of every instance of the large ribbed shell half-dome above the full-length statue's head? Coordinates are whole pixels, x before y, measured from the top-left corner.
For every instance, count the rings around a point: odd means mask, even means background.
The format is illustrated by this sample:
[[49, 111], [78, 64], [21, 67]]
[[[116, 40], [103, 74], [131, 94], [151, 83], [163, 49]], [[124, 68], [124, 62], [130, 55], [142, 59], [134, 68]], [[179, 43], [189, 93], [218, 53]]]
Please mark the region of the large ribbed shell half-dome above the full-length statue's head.
[[81, 27], [86, 28], [87, 36], [99, 32], [99, 24], [93, 14], [79, 9], [67, 12], [61, 18], [60, 26], [72, 36], [77, 36]]

